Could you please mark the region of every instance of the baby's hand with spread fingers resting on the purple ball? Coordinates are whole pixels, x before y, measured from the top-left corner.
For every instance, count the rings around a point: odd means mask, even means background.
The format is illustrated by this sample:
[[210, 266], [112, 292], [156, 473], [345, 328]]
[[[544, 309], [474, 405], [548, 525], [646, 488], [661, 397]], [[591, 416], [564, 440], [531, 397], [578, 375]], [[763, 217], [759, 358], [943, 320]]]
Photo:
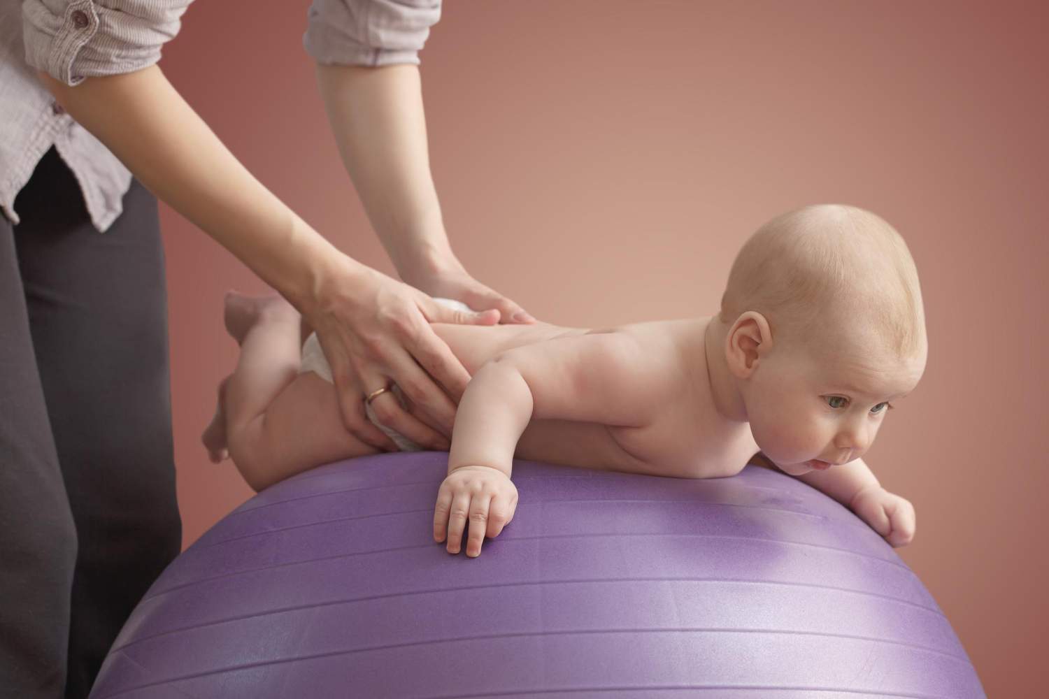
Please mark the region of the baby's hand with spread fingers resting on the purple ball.
[[448, 552], [458, 553], [469, 518], [466, 554], [478, 556], [485, 534], [498, 537], [516, 509], [517, 487], [505, 473], [491, 466], [462, 466], [450, 473], [437, 490], [433, 540], [440, 544], [447, 536]]

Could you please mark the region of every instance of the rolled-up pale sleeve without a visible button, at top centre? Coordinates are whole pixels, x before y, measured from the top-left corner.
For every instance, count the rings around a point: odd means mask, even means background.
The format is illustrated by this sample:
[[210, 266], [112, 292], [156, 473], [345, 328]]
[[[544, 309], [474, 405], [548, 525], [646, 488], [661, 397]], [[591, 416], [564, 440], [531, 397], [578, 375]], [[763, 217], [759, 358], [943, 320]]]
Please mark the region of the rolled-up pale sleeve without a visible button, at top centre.
[[302, 43], [325, 65], [419, 63], [441, 0], [314, 0]]

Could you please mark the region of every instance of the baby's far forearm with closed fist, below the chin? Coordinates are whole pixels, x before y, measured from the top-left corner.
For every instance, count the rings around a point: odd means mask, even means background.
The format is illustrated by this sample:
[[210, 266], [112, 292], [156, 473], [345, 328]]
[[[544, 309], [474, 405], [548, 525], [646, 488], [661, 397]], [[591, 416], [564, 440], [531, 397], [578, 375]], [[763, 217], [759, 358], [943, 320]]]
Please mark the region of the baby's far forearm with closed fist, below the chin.
[[905, 546], [914, 539], [914, 505], [881, 487], [863, 459], [797, 478], [856, 512], [893, 546]]

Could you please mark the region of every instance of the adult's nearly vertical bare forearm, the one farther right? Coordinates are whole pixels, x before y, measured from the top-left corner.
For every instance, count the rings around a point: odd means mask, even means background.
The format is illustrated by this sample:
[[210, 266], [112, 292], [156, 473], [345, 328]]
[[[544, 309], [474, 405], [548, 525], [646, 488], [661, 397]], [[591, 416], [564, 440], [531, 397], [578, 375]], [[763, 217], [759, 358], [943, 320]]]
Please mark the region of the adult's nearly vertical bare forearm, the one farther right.
[[318, 65], [346, 170], [405, 281], [451, 256], [426, 136], [419, 67]]

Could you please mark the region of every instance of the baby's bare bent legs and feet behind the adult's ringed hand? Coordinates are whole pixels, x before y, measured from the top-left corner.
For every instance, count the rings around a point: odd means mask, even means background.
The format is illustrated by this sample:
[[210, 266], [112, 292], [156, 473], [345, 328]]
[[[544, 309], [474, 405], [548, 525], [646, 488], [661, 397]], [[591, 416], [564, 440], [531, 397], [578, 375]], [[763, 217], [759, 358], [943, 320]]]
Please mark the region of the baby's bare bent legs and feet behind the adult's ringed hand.
[[[299, 374], [301, 326], [291, 304], [228, 293], [226, 326], [240, 357], [220, 389], [215, 422], [224, 424], [229, 454], [249, 485], [260, 490], [322, 463], [378, 453], [343, 427], [335, 388]], [[217, 430], [209, 432], [205, 443], [220, 455]]]

